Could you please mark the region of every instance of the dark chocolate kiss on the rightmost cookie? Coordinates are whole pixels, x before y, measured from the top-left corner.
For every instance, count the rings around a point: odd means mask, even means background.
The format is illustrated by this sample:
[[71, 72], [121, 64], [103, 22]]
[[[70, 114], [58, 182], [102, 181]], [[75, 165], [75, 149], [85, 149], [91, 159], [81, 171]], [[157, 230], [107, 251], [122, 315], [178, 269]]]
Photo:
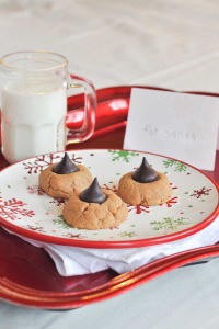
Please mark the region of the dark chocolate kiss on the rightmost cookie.
[[143, 157], [140, 167], [132, 173], [132, 179], [139, 183], [150, 183], [159, 180], [159, 175]]

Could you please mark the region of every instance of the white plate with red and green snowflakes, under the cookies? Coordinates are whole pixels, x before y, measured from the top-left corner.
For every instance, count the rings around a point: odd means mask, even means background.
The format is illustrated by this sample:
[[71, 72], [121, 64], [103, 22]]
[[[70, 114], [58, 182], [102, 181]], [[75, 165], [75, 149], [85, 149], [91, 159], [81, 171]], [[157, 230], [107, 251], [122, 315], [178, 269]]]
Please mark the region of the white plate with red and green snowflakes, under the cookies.
[[218, 214], [217, 184], [201, 171], [166, 157], [126, 150], [72, 150], [76, 164], [87, 166], [102, 188], [116, 192], [120, 177], [140, 166], [142, 157], [164, 172], [172, 198], [157, 206], [127, 205], [128, 219], [113, 229], [85, 230], [66, 224], [64, 200], [38, 189], [43, 169], [59, 162], [64, 152], [31, 158], [0, 172], [0, 223], [24, 237], [87, 248], [142, 247], [184, 238], [209, 225]]

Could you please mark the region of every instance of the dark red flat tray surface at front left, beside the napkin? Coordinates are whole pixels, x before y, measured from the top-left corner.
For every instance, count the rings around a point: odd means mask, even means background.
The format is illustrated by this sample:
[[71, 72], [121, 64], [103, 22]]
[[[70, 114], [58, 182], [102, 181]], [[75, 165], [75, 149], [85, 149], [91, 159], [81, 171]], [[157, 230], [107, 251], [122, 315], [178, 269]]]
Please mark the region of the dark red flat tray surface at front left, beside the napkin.
[[35, 290], [78, 292], [100, 286], [117, 274], [102, 271], [94, 274], [61, 276], [42, 248], [32, 246], [0, 228], [0, 276]]

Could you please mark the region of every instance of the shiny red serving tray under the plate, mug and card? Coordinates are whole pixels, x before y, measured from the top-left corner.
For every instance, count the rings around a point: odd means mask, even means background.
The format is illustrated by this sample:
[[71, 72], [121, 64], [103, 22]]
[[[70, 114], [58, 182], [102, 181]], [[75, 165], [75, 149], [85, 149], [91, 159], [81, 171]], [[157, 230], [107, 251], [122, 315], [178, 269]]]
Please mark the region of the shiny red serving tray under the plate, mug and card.
[[[146, 89], [164, 90], [151, 87]], [[123, 148], [131, 87], [97, 90], [95, 133], [80, 148]], [[189, 92], [219, 97], [216, 93]], [[71, 123], [73, 121], [73, 124]], [[83, 121], [83, 95], [68, 100], [67, 124], [79, 127]], [[69, 145], [67, 149], [78, 148]], [[0, 154], [0, 169], [8, 166]], [[214, 172], [219, 183], [219, 152]], [[0, 298], [10, 303], [47, 309], [70, 309], [126, 292], [175, 268], [219, 254], [219, 246], [198, 248], [163, 258], [138, 270], [117, 275], [112, 270], [64, 277], [45, 250], [36, 248], [0, 227]]]

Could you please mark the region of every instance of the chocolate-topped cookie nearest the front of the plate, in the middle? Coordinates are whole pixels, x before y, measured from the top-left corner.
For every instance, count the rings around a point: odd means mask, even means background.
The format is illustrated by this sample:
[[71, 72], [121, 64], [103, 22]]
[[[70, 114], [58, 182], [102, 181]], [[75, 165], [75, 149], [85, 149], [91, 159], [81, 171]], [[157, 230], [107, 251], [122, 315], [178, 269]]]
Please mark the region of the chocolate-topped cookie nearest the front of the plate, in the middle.
[[96, 178], [88, 189], [80, 195], [72, 195], [64, 206], [64, 219], [77, 228], [112, 228], [127, 217], [127, 205], [114, 192], [101, 189]]

